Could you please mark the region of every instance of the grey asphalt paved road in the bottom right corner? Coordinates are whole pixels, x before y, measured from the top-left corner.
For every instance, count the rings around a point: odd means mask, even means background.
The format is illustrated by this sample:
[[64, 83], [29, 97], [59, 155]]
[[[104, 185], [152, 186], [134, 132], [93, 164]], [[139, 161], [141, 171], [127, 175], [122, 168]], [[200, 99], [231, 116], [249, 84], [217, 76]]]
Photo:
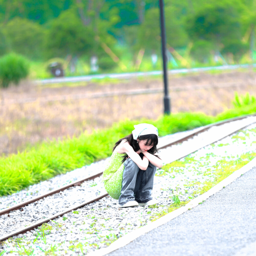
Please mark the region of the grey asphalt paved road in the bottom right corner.
[[256, 167], [194, 207], [108, 256], [255, 256]]

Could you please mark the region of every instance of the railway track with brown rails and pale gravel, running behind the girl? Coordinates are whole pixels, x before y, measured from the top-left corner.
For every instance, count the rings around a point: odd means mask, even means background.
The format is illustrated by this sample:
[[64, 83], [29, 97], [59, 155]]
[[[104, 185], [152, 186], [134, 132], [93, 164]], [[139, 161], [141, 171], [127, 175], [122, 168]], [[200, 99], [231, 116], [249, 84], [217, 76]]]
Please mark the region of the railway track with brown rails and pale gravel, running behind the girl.
[[[222, 138], [225, 138], [228, 135], [233, 134], [238, 130], [244, 129], [248, 125], [255, 122], [256, 122], [256, 117], [252, 115], [249, 117], [248, 116], [240, 117], [236, 119], [219, 122], [217, 124], [201, 127], [201, 128], [195, 129], [194, 131], [187, 132], [185, 135], [180, 134], [178, 138], [177, 137], [172, 138], [172, 136], [169, 136], [169, 137], [167, 136], [166, 138], [164, 138], [164, 141], [159, 142], [158, 149], [161, 154], [162, 151], [167, 151], [170, 149], [170, 147], [173, 147], [173, 150], [172, 150], [173, 152], [169, 154], [165, 153], [167, 157], [164, 157], [164, 162], [166, 164], [171, 163], [177, 159], [183, 158], [186, 155], [199, 150], [200, 148], [205, 147], [206, 145], [219, 141]], [[225, 129], [223, 128], [224, 126], [225, 126]], [[203, 133], [208, 133], [209, 135], [201, 136]], [[197, 137], [197, 140], [195, 139], [195, 137]], [[193, 140], [194, 142], [190, 143], [189, 140], [191, 141]], [[180, 145], [180, 143], [182, 142], [183, 144]], [[190, 146], [188, 146], [189, 143], [191, 144]], [[47, 194], [25, 201], [22, 204], [14, 205], [12, 207], [8, 207], [4, 210], [1, 210], [0, 224], [1, 224], [1, 218], [2, 219], [13, 218], [14, 221], [12, 221], [13, 223], [10, 225], [8, 229], [9, 232], [2, 233], [1, 231], [2, 234], [1, 234], [0, 241], [4, 241], [18, 234], [26, 233], [27, 231], [33, 230], [35, 227], [42, 225], [42, 223], [49, 222], [50, 220], [58, 218], [59, 216], [63, 216], [69, 212], [75, 211], [80, 208], [84, 208], [87, 205], [94, 204], [95, 201], [98, 201], [102, 198], [103, 200], [107, 200], [107, 201], [110, 200], [107, 197], [107, 194], [105, 193], [105, 191], [103, 191], [104, 189], [102, 189], [102, 186], [98, 190], [96, 189], [92, 191], [92, 194], [94, 194], [94, 196], [91, 196], [91, 197], [87, 196], [87, 194], [89, 193], [88, 192], [89, 189], [92, 189], [92, 187], [90, 186], [91, 180], [93, 179], [99, 180], [100, 179], [99, 177], [101, 174], [102, 172], [95, 173], [81, 180], [76, 180], [75, 182], [70, 183], [69, 185], [60, 187], [58, 189], [54, 189], [48, 192]], [[78, 185], [81, 185], [81, 189], [82, 189], [81, 194], [78, 194], [78, 190], [79, 190]], [[84, 196], [85, 193], [86, 193], [86, 197], [89, 197], [89, 199], [86, 202], [84, 202], [83, 198], [81, 198], [80, 200], [82, 201], [81, 203], [76, 203], [75, 205], [72, 205], [72, 206], [70, 205], [69, 207], [65, 206], [64, 209], [62, 208], [61, 210], [55, 209], [54, 210], [55, 214], [50, 214], [50, 211], [41, 212], [45, 208], [44, 201], [47, 200], [46, 198], [49, 198], [48, 199], [49, 201], [48, 205], [49, 205], [50, 202], [53, 202], [54, 200], [58, 200], [59, 195], [71, 193], [72, 190], [73, 190], [73, 195], [71, 195], [67, 200], [72, 200], [71, 198], [75, 199], [77, 196], [80, 196], [80, 195]], [[97, 195], [95, 196], [95, 194]], [[59, 202], [59, 204], [61, 204], [61, 201]], [[25, 208], [29, 208], [29, 207], [31, 211], [34, 211], [34, 214], [29, 214], [29, 211], [25, 210]], [[41, 210], [38, 210], [36, 212], [37, 208]], [[27, 212], [26, 214], [27, 217], [23, 216], [23, 212]], [[29, 219], [34, 218], [33, 216], [40, 215], [40, 214], [42, 215], [41, 216], [42, 218], [40, 218], [40, 220], [29, 221]], [[14, 217], [16, 215], [18, 216], [17, 218]], [[20, 228], [22, 225], [23, 226], [27, 225], [27, 226]]]

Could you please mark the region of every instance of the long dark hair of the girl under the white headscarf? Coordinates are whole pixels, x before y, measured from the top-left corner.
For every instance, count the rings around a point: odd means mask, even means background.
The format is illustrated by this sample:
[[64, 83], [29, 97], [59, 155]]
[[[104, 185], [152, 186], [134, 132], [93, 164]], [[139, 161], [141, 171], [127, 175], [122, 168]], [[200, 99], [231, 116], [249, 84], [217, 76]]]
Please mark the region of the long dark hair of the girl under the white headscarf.
[[[153, 147], [148, 150], [147, 152], [149, 152], [150, 154], [154, 155], [155, 153], [157, 153], [157, 148], [156, 145], [158, 144], [158, 137], [156, 134], [146, 134], [146, 135], [141, 135], [138, 136], [139, 140], [147, 140], [146, 141], [146, 145], [152, 145]], [[113, 151], [115, 150], [115, 148], [121, 143], [122, 140], [126, 140], [133, 148], [133, 150], [136, 152], [140, 149], [139, 144], [137, 143], [137, 140], [133, 139], [133, 135], [132, 133], [130, 135], [125, 136], [124, 138], [121, 138], [118, 142], [115, 143], [115, 146], [113, 147]], [[157, 155], [156, 155], [157, 156]], [[125, 154], [123, 156], [123, 160], [122, 163], [126, 160], [126, 158], [128, 157], [127, 154]], [[158, 158], [160, 158], [159, 156], [157, 156]]]

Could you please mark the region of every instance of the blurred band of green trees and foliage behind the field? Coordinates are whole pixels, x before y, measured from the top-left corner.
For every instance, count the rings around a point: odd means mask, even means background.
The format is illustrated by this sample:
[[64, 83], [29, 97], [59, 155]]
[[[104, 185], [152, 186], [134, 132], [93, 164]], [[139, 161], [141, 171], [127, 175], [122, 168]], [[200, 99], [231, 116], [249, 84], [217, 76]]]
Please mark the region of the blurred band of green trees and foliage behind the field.
[[[23, 55], [34, 78], [51, 58], [67, 76], [159, 69], [159, 23], [158, 0], [0, 0], [0, 57]], [[165, 23], [169, 68], [255, 60], [256, 0], [165, 0]]]

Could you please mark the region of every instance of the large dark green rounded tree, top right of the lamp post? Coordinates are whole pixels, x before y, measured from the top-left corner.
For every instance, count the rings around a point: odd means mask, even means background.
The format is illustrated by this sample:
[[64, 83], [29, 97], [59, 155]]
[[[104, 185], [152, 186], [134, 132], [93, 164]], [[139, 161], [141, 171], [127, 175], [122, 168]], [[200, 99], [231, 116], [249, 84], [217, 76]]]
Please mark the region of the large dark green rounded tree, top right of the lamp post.
[[[239, 3], [240, 1], [237, 0], [210, 2], [188, 15], [186, 30], [190, 40], [194, 42], [208, 41], [212, 45], [213, 51], [223, 49], [223, 53], [244, 53], [246, 45], [239, 43], [242, 40], [242, 25], [240, 23], [242, 7]], [[196, 43], [196, 45], [200, 50], [201, 44]], [[196, 47], [194, 47], [194, 51], [197, 51]], [[238, 58], [240, 57], [241, 54]]]

